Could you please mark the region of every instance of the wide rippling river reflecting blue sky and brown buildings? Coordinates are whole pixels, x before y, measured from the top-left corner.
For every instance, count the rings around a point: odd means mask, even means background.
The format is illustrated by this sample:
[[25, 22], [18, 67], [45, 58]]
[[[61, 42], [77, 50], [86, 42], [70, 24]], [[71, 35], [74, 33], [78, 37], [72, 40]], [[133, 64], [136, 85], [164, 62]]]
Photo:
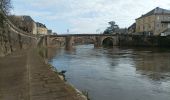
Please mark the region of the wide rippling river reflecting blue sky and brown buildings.
[[91, 100], [170, 100], [170, 49], [58, 49], [49, 60]]

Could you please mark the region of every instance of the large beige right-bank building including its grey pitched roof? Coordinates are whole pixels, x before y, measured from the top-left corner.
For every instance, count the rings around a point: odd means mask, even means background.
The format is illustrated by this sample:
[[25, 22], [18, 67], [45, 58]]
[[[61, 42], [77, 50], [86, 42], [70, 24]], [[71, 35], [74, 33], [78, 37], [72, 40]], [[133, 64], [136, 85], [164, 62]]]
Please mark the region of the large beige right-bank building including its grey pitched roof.
[[155, 8], [136, 19], [136, 33], [161, 35], [170, 28], [170, 10]]

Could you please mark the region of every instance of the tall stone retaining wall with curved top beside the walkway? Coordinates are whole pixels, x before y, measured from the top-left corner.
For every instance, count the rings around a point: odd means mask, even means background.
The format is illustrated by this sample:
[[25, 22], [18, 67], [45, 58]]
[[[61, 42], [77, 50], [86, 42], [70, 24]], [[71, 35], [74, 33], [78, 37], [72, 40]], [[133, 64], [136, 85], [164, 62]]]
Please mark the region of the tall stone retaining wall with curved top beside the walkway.
[[24, 34], [8, 20], [0, 26], [0, 57], [11, 52], [36, 46], [36, 37]]

